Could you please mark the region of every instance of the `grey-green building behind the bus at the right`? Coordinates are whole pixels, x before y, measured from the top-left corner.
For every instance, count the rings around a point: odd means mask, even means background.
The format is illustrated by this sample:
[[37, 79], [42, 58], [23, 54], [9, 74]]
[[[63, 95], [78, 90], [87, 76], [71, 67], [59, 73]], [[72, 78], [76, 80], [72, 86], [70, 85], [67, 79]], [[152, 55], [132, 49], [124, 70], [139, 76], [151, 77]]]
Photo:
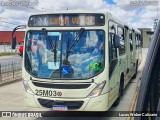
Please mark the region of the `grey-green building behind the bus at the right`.
[[139, 28], [142, 34], [142, 48], [149, 48], [151, 43], [151, 34], [147, 34], [147, 32], [151, 32], [151, 28]]

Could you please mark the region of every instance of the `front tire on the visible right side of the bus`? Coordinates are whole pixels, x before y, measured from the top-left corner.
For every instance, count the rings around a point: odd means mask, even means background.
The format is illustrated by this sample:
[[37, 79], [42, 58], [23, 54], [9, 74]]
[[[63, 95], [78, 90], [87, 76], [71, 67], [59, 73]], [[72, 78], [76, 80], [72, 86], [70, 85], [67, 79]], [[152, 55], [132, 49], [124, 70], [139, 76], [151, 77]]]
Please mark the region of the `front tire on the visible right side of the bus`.
[[124, 77], [121, 75], [120, 86], [119, 86], [119, 95], [117, 100], [113, 103], [113, 106], [116, 107], [119, 105], [121, 96], [123, 96], [123, 85], [124, 85]]

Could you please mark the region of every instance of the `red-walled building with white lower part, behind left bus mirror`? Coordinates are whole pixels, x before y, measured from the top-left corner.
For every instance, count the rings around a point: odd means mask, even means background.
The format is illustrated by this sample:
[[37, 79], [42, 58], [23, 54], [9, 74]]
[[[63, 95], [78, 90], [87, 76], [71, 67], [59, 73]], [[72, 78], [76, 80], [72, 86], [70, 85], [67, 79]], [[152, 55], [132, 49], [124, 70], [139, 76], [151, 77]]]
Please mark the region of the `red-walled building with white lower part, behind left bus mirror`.
[[[25, 31], [16, 31], [17, 44], [24, 41]], [[0, 31], [0, 52], [12, 52], [12, 31]], [[18, 46], [17, 46], [18, 47]]]

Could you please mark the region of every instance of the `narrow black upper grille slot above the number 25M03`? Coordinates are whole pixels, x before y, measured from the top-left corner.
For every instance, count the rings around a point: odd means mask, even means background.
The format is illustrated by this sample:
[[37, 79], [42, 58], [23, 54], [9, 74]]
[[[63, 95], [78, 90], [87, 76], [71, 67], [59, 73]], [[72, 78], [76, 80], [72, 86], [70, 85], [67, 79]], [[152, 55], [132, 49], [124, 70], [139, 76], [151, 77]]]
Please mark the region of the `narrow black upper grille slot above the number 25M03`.
[[57, 89], [85, 89], [88, 88], [91, 84], [49, 84], [49, 83], [39, 83], [32, 82], [37, 87], [44, 88], [57, 88]]

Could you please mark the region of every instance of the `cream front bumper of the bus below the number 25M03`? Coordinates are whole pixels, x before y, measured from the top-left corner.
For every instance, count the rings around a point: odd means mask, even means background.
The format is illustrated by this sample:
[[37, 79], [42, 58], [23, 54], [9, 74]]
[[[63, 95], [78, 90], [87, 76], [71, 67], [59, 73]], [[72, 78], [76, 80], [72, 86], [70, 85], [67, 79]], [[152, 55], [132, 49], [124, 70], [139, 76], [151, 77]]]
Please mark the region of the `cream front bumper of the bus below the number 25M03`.
[[51, 110], [52, 105], [66, 105], [69, 111], [107, 111], [108, 93], [94, 98], [67, 99], [31, 95], [25, 92], [25, 102], [32, 107]]

